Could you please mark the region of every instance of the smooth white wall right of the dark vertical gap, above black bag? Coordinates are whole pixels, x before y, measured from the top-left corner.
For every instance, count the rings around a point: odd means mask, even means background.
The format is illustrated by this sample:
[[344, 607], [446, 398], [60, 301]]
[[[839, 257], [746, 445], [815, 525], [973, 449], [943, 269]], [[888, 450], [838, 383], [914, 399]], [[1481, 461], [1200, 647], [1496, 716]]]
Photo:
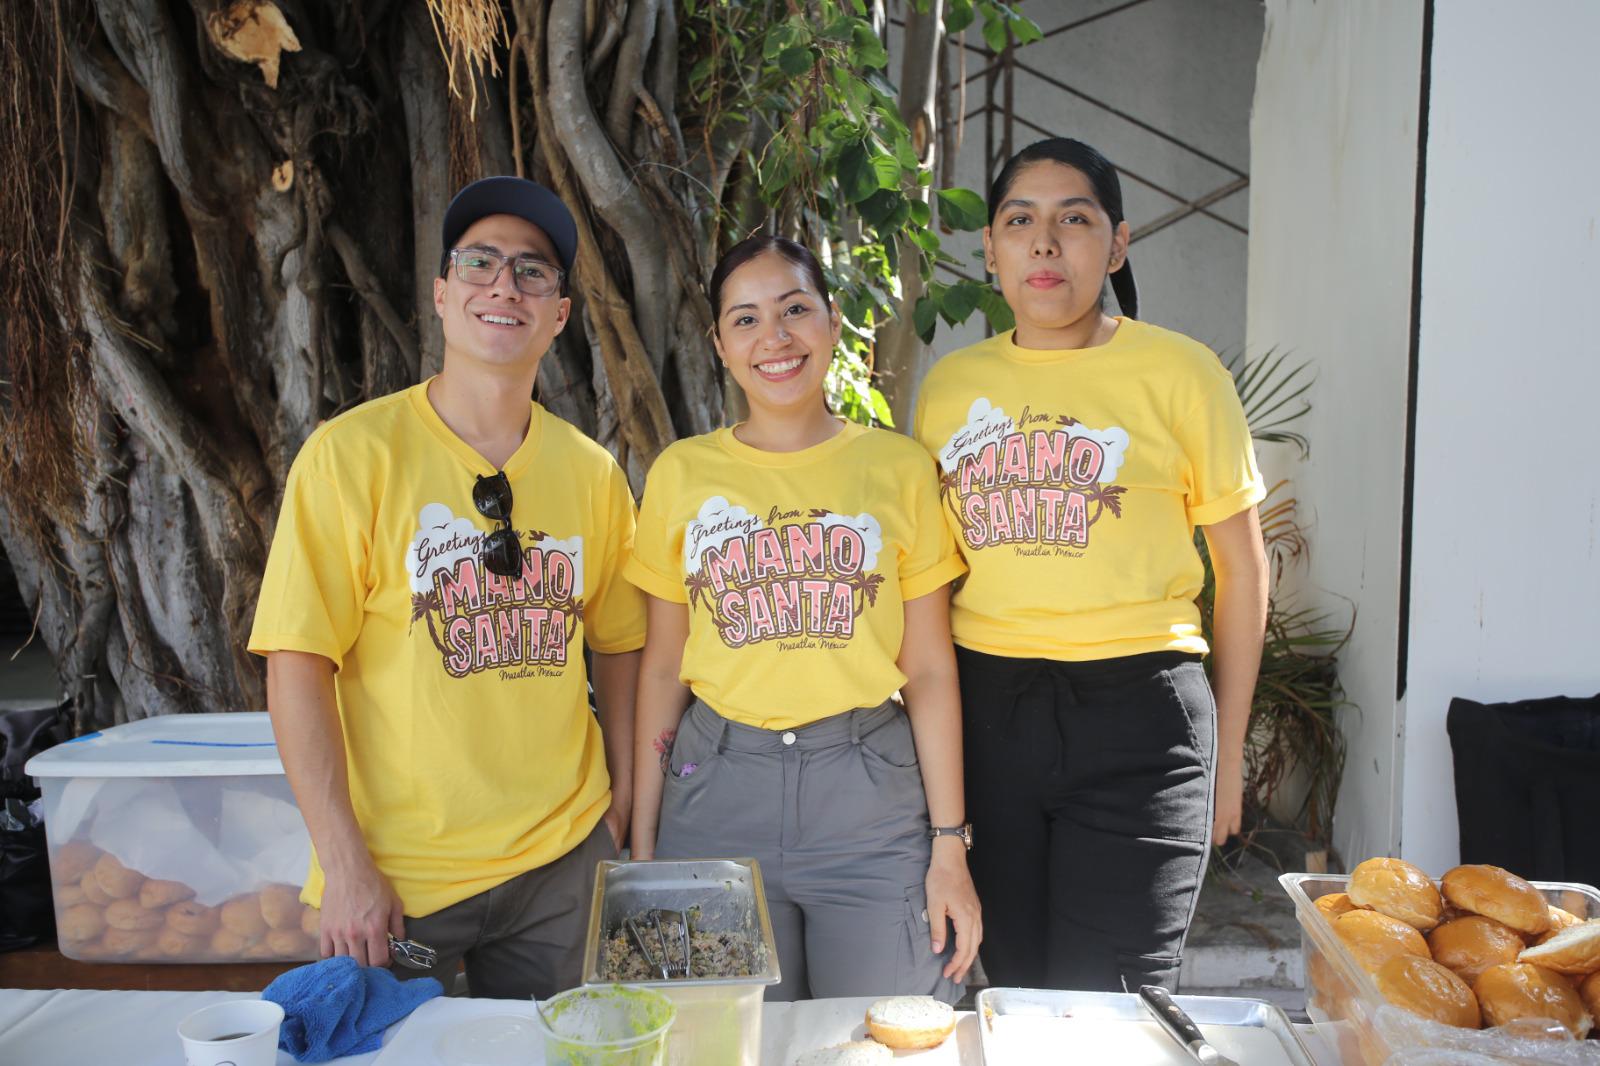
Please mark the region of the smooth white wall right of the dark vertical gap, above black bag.
[[1437, 5], [1402, 802], [1430, 871], [1456, 861], [1451, 696], [1600, 691], [1595, 42], [1592, 0]]

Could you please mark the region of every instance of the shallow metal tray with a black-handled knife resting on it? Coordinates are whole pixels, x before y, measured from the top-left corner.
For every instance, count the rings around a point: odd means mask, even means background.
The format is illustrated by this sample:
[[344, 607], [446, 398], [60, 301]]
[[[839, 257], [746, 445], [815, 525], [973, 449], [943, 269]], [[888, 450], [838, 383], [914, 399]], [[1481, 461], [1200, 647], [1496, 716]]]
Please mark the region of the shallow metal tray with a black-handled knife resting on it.
[[[1283, 1048], [1283, 1058], [1291, 1066], [1317, 1066], [1310, 1052], [1301, 1044], [1288, 1015], [1272, 1004], [1259, 999], [1232, 999], [1213, 996], [1174, 996], [1173, 1002], [1182, 1007], [1195, 1024], [1208, 1032], [1222, 1026], [1242, 1029], [1264, 1029], [1277, 1037]], [[1070, 1029], [1062, 1028], [1061, 1037], [1053, 1040], [1051, 1058], [1021, 1058], [1008, 1055], [1000, 1047], [995, 1036], [995, 1024], [1006, 1016], [1030, 1018], [1075, 1018], [1096, 1021], [1146, 1023], [1154, 1028], [1162, 1040], [1171, 1044], [1173, 1061], [1192, 1061], [1189, 1053], [1160, 1032], [1157, 1021], [1139, 1004], [1139, 997], [1128, 992], [1070, 992], [1038, 988], [987, 988], [978, 994], [978, 1039], [984, 1052], [986, 1066], [1022, 1066], [1022, 1063], [1038, 1061], [1075, 1061], [1070, 1040]], [[1130, 1032], [1130, 1037], [1134, 1034]], [[1125, 1060], [1128, 1061], [1128, 1060]], [[1246, 1066], [1253, 1066], [1246, 1063]]]

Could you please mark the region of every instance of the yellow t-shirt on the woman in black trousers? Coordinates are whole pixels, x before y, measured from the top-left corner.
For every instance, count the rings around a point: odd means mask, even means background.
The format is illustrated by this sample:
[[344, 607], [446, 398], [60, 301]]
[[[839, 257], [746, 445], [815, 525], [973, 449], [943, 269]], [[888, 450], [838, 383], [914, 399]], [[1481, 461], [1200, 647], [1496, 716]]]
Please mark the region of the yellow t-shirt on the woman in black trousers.
[[1099, 347], [1011, 333], [939, 360], [914, 435], [941, 467], [971, 573], [963, 648], [1043, 659], [1206, 651], [1197, 525], [1266, 496], [1234, 379], [1210, 349], [1120, 319]]

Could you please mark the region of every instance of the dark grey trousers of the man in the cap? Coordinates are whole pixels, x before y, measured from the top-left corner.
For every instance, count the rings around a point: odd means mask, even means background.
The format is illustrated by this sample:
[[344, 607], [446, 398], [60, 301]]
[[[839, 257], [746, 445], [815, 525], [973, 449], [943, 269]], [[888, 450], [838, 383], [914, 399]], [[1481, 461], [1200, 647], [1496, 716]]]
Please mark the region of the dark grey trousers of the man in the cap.
[[595, 866], [616, 858], [605, 820], [555, 860], [426, 917], [406, 917], [405, 933], [438, 952], [430, 970], [394, 965], [397, 978], [438, 978], [450, 994], [458, 967], [467, 989], [485, 999], [547, 999], [582, 981], [584, 936]]

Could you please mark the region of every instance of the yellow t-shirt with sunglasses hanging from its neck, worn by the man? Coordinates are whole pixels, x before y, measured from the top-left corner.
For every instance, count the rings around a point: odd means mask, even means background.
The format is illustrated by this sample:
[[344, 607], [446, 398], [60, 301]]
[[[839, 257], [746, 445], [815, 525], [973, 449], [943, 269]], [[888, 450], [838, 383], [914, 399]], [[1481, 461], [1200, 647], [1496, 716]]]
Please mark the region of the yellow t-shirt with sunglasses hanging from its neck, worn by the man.
[[[634, 498], [611, 456], [538, 403], [507, 459], [522, 578], [480, 563], [472, 506], [494, 472], [427, 383], [306, 440], [278, 512], [250, 650], [312, 651], [334, 690], [350, 800], [413, 917], [581, 844], [611, 802], [582, 645], [632, 651], [643, 597], [621, 579]], [[304, 898], [322, 901], [312, 860]]]

